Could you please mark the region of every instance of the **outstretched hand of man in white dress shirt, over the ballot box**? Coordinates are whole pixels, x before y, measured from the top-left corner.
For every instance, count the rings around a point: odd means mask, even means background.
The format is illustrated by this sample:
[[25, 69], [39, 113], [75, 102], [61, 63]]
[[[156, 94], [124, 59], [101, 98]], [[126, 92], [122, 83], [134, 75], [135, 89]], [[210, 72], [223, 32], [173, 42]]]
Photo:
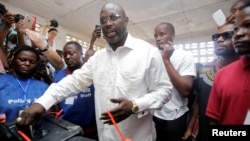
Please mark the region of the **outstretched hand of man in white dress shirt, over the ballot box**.
[[45, 109], [38, 103], [32, 104], [30, 107], [25, 109], [22, 114], [17, 118], [16, 124], [18, 125], [32, 125], [39, 118], [42, 117]]

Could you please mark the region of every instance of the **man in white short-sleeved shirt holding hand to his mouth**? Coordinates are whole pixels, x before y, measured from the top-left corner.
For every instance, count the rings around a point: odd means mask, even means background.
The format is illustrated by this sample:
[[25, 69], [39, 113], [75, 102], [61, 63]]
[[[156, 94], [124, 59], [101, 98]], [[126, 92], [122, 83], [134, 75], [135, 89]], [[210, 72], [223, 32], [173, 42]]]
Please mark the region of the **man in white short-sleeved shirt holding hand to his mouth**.
[[187, 97], [192, 92], [196, 77], [193, 55], [173, 47], [175, 30], [171, 23], [163, 22], [157, 25], [154, 36], [174, 86], [171, 100], [154, 113], [156, 141], [182, 141], [189, 110]]

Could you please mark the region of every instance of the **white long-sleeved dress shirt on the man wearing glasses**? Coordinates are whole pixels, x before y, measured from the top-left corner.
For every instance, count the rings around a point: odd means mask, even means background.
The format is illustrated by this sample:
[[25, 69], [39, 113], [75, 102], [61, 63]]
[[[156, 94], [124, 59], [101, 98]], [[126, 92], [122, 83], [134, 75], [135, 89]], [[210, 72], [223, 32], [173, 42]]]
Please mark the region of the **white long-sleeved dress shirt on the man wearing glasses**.
[[[138, 114], [120, 122], [122, 133], [133, 141], [152, 141], [154, 125], [149, 110], [161, 108], [171, 98], [172, 85], [161, 54], [149, 43], [130, 34], [124, 46], [113, 51], [109, 45], [97, 51], [83, 67], [53, 83], [36, 102], [49, 109], [54, 103], [95, 86], [96, 121], [100, 141], [119, 141], [113, 125], [103, 124], [101, 113], [116, 107], [110, 98], [135, 100]], [[82, 107], [84, 108], [84, 107]]]

